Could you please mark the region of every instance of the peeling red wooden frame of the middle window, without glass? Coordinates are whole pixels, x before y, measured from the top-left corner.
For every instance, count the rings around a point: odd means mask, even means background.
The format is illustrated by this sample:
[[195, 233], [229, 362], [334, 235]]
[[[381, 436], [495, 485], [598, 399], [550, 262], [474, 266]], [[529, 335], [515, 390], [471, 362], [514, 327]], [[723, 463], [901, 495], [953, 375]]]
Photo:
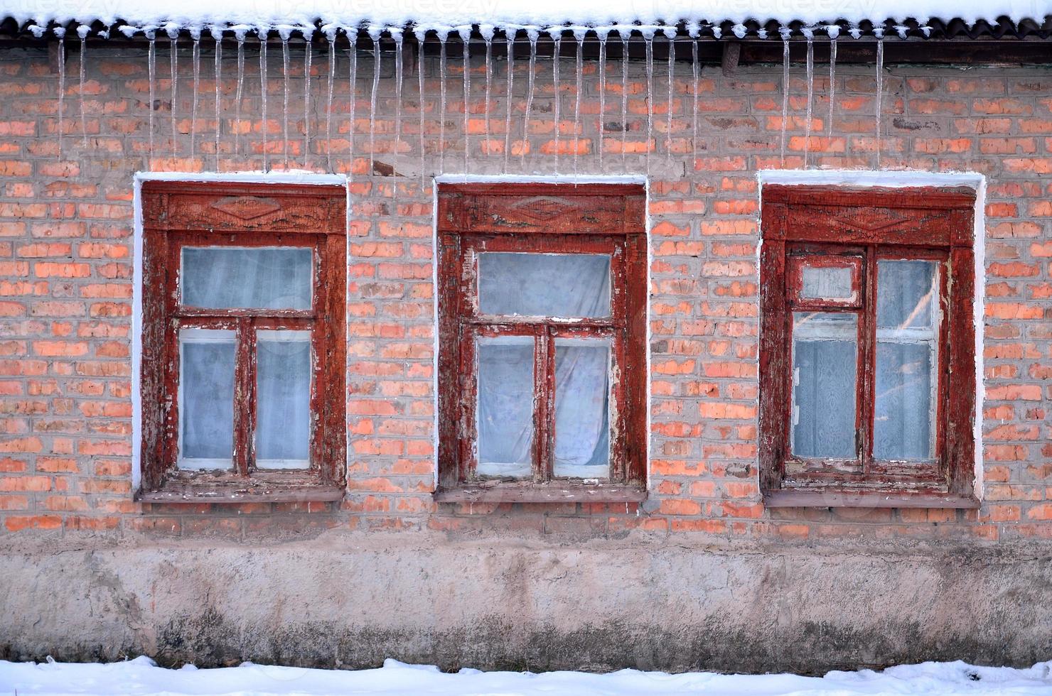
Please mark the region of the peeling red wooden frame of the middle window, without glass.
[[[621, 184], [443, 184], [439, 187], [438, 501], [635, 503], [646, 498], [646, 193]], [[486, 316], [478, 311], [481, 251], [608, 253], [609, 319]], [[531, 480], [481, 480], [476, 465], [474, 335], [532, 335]], [[607, 336], [611, 381], [610, 477], [552, 478], [554, 340]]]

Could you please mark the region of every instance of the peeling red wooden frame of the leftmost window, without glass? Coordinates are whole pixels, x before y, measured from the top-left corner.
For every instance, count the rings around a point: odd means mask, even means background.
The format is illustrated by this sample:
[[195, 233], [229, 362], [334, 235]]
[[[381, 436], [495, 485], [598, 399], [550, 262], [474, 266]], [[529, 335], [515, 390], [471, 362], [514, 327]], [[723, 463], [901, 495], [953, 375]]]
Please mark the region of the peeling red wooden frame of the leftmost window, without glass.
[[[142, 487], [144, 503], [328, 501], [346, 462], [346, 190], [332, 185], [148, 181], [142, 186]], [[185, 247], [312, 249], [311, 307], [204, 309], [180, 304]], [[178, 467], [179, 330], [236, 332], [232, 471]], [[311, 332], [308, 469], [256, 469], [257, 330]]]

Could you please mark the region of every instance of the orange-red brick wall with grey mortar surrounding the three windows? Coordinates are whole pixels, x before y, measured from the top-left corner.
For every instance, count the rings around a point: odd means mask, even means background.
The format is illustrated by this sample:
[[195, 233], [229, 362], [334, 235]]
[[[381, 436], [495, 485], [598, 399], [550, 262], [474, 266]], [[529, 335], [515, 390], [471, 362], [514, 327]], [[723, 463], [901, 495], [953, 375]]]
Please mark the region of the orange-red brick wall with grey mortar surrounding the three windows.
[[[67, 64], [62, 153], [58, 78], [46, 53], [0, 55], [0, 524], [5, 533], [93, 531], [235, 538], [284, 530], [540, 531], [585, 535], [642, 529], [766, 540], [901, 538], [969, 543], [1052, 536], [1052, 75], [1041, 68], [967, 73], [892, 65], [875, 138], [872, 66], [844, 66], [827, 136], [828, 78], [815, 78], [809, 164], [870, 168], [874, 148], [888, 168], [976, 171], [987, 177], [984, 334], [985, 503], [978, 511], [765, 510], [756, 474], [758, 193], [756, 171], [780, 162], [781, 73], [743, 67], [725, 77], [705, 66], [699, 139], [692, 142], [690, 64], [676, 66], [671, 138], [667, 74], [655, 67], [650, 139], [651, 444], [650, 497], [625, 505], [437, 506], [433, 476], [432, 204], [421, 173], [464, 167], [459, 59], [448, 65], [445, 140], [439, 141], [439, 82], [425, 63], [425, 153], [421, 171], [416, 73], [407, 69], [402, 138], [393, 152], [394, 86], [381, 81], [370, 134], [371, 63], [359, 59], [350, 137], [347, 61], [340, 56], [326, 142], [327, 61], [316, 55], [303, 152], [302, 54], [289, 80], [290, 168], [350, 173], [348, 257], [348, 491], [340, 505], [141, 506], [132, 499], [133, 173], [216, 169], [211, 55], [204, 50], [196, 151], [190, 146], [193, 73], [181, 47], [173, 155], [168, 56], [158, 56], [155, 157], [148, 155], [145, 54], [107, 46], [87, 57], [82, 114], [77, 56]], [[386, 57], [385, 57], [386, 59]], [[264, 127], [269, 163], [283, 168], [283, 80], [271, 52], [268, 120], [260, 120], [258, 59], [249, 52], [240, 139], [236, 81], [222, 82], [219, 170], [260, 169]], [[550, 62], [540, 61], [537, 97], [523, 137], [526, 63], [517, 62], [508, 171], [573, 169], [646, 172], [646, 78], [632, 64], [622, 145], [621, 65], [607, 75], [606, 137], [596, 138], [599, 79], [585, 68], [574, 134], [572, 60], [563, 60], [560, 139]], [[232, 49], [224, 76], [236, 73]], [[505, 70], [498, 63], [485, 135], [485, 68], [471, 75], [467, 141], [472, 173], [504, 171]], [[804, 165], [806, 84], [794, 65], [785, 166]], [[377, 166], [367, 157], [376, 144]], [[668, 144], [671, 151], [668, 151]], [[235, 148], [239, 150], [235, 152]], [[696, 147], [696, 157], [694, 148]], [[525, 160], [521, 159], [525, 150]], [[369, 171], [399, 175], [367, 176]]]

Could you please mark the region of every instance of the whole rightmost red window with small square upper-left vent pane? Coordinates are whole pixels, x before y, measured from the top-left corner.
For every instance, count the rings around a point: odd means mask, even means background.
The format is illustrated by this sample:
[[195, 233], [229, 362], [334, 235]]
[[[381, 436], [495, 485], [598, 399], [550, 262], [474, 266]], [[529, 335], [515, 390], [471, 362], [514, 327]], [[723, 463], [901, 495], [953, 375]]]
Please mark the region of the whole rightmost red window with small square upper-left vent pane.
[[970, 190], [768, 185], [769, 506], [977, 507]]

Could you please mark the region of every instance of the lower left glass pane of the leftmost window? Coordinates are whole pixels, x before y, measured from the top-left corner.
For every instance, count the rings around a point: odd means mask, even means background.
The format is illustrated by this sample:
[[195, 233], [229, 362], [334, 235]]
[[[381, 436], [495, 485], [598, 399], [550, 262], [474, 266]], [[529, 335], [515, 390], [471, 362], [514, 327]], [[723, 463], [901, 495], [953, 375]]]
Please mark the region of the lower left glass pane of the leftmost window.
[[234, 348], [228, 329], [179, 331], [179, 468], [234, 466]]

